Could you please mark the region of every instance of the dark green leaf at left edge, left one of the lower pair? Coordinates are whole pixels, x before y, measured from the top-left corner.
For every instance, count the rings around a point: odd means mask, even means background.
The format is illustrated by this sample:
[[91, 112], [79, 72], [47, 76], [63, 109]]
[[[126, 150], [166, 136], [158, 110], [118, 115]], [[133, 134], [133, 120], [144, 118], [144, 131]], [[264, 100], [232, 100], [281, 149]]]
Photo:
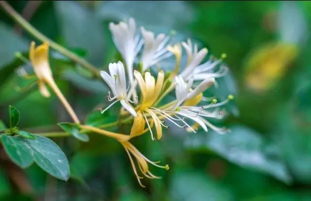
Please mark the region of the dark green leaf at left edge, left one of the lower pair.
[[33, 154], [27, 141], [20, 136], [1, 135], [5, 152], [20, 168], [27, 168], [33, 163]]

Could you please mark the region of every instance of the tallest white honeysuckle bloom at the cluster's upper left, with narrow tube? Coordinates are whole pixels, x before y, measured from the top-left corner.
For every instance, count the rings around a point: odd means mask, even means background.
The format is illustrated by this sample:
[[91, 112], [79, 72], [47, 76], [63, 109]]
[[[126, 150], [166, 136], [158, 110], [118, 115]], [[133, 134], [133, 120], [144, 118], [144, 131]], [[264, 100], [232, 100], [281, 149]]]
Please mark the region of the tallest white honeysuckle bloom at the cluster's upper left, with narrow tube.
[[121, 21], [119, 24], [111, 22], [109, 29], [112, 33], [113, 42], [124, 59], [127, 74], [132, 84], [134, 81], [134, 60], [143, 45], [143, 40], [140, 39], [139, 33], [136, 32], [135, 20], [130, 18], [128, 23]]

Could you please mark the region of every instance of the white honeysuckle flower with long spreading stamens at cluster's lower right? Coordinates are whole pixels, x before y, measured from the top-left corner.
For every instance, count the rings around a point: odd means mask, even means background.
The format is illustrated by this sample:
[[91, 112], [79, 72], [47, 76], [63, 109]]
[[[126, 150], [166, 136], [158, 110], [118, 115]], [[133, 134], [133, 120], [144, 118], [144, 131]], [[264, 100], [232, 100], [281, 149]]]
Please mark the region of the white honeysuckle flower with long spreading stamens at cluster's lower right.
[[[180, 128], [188, 127], [188, 129], [190, 129], [194, 133], [196, 132], [195, 129], [193, 129], [192, 126], [190, 126], [185, 121], [186, 118], [195, 121], [205, 131], [207, 131], [207, 128], [209, 127], [219, 134], [225, 134], [226, 132], [228, 132], [226, 128], [218, 128], [206, 120], [206, 117], [221, 119], [225, 116], [225, 111], [215, 110], [213, 112], [209, 112], [206, 111], [205, 109], [222, 106], [226, 104], [230, 99], [232, 99], [232, 96], [230, 96], [228, 100], [220, 103], [216, 103], [216, 101], [214, 100], [212, 101], [211, 104], [203, 106], [191, 106], [191, 104], [190, 106], [181, 105], [185, 101], [189, 101], [195, 98], [196, 96], [199, 96], [201, 92], [205, 91], [209, 86], [214, 84], [215, 82], [214, 78], [204, 80], [198, 85], [198, 87], [196, 87], [193, 90], [190, 90], [191, 85], [193, 83], [193, 78], [190, 78], [190, 82], [186, 84], [183, 78], [180, 75], [178, 75], [175, 77], [175, 82], [176, 82], [175, 87], [176, 104], [162, 110], [152, 107], [150, 109], [152, 112], [154, 112], [157, 116], [165, 117], [167, 120], [171, 121], [173, 124], [175, 124]], [[179, 122], [181, 122], [182, 125], [179, 124]], [[163, 124], [163, 122], [161, 122], [161, 125], [167, 127]]]

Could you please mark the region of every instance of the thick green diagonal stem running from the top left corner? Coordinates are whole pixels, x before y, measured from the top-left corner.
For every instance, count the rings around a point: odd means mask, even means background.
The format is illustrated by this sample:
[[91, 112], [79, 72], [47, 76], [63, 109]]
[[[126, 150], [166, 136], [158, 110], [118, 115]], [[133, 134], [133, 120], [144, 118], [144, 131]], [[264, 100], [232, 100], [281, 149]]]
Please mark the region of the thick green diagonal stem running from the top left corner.
[[40, 33], [36, 30], [30, 23], [28, 23], [23, 17], [21, 17], [6, 1], [1, 0], [0, 5], [2, 8], [7, 12], [7, 14], [12, 17], [23, 29], [25, 29], [28, 33], [32, 34], [35, 38], [43, 41], [48, 41], [51, 48], [54, 50], [59, 51], [60, 53], [64, 54], [65, 56], [69, 57], [71, 60], [75, 61], [76, 63], [86, 67], [89, 71], [91, 71], [96, 77], [100, 77], [98, 73], [98, 69], [91, 64], [89, 64], [86, 60], [80, 58], [76, 54], [72, 53], [71, 51], [67, 50], [66, 48], [60, 46], [59, 44], [52, 41], [47, 36]]

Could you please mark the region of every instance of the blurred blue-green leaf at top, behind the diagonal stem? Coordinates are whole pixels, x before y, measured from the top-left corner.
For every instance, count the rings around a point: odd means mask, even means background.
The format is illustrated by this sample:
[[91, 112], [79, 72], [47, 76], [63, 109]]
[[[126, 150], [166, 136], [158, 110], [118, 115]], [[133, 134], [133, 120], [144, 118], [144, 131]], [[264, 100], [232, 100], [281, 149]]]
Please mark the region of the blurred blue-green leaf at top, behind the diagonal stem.
[[[75, 1], [53, 1], [66, 46], [82, 48], [87, 60], [103, 65], [104, 29], [92, 12]], [[87, 28], [86, 28], [87, 27]]]

